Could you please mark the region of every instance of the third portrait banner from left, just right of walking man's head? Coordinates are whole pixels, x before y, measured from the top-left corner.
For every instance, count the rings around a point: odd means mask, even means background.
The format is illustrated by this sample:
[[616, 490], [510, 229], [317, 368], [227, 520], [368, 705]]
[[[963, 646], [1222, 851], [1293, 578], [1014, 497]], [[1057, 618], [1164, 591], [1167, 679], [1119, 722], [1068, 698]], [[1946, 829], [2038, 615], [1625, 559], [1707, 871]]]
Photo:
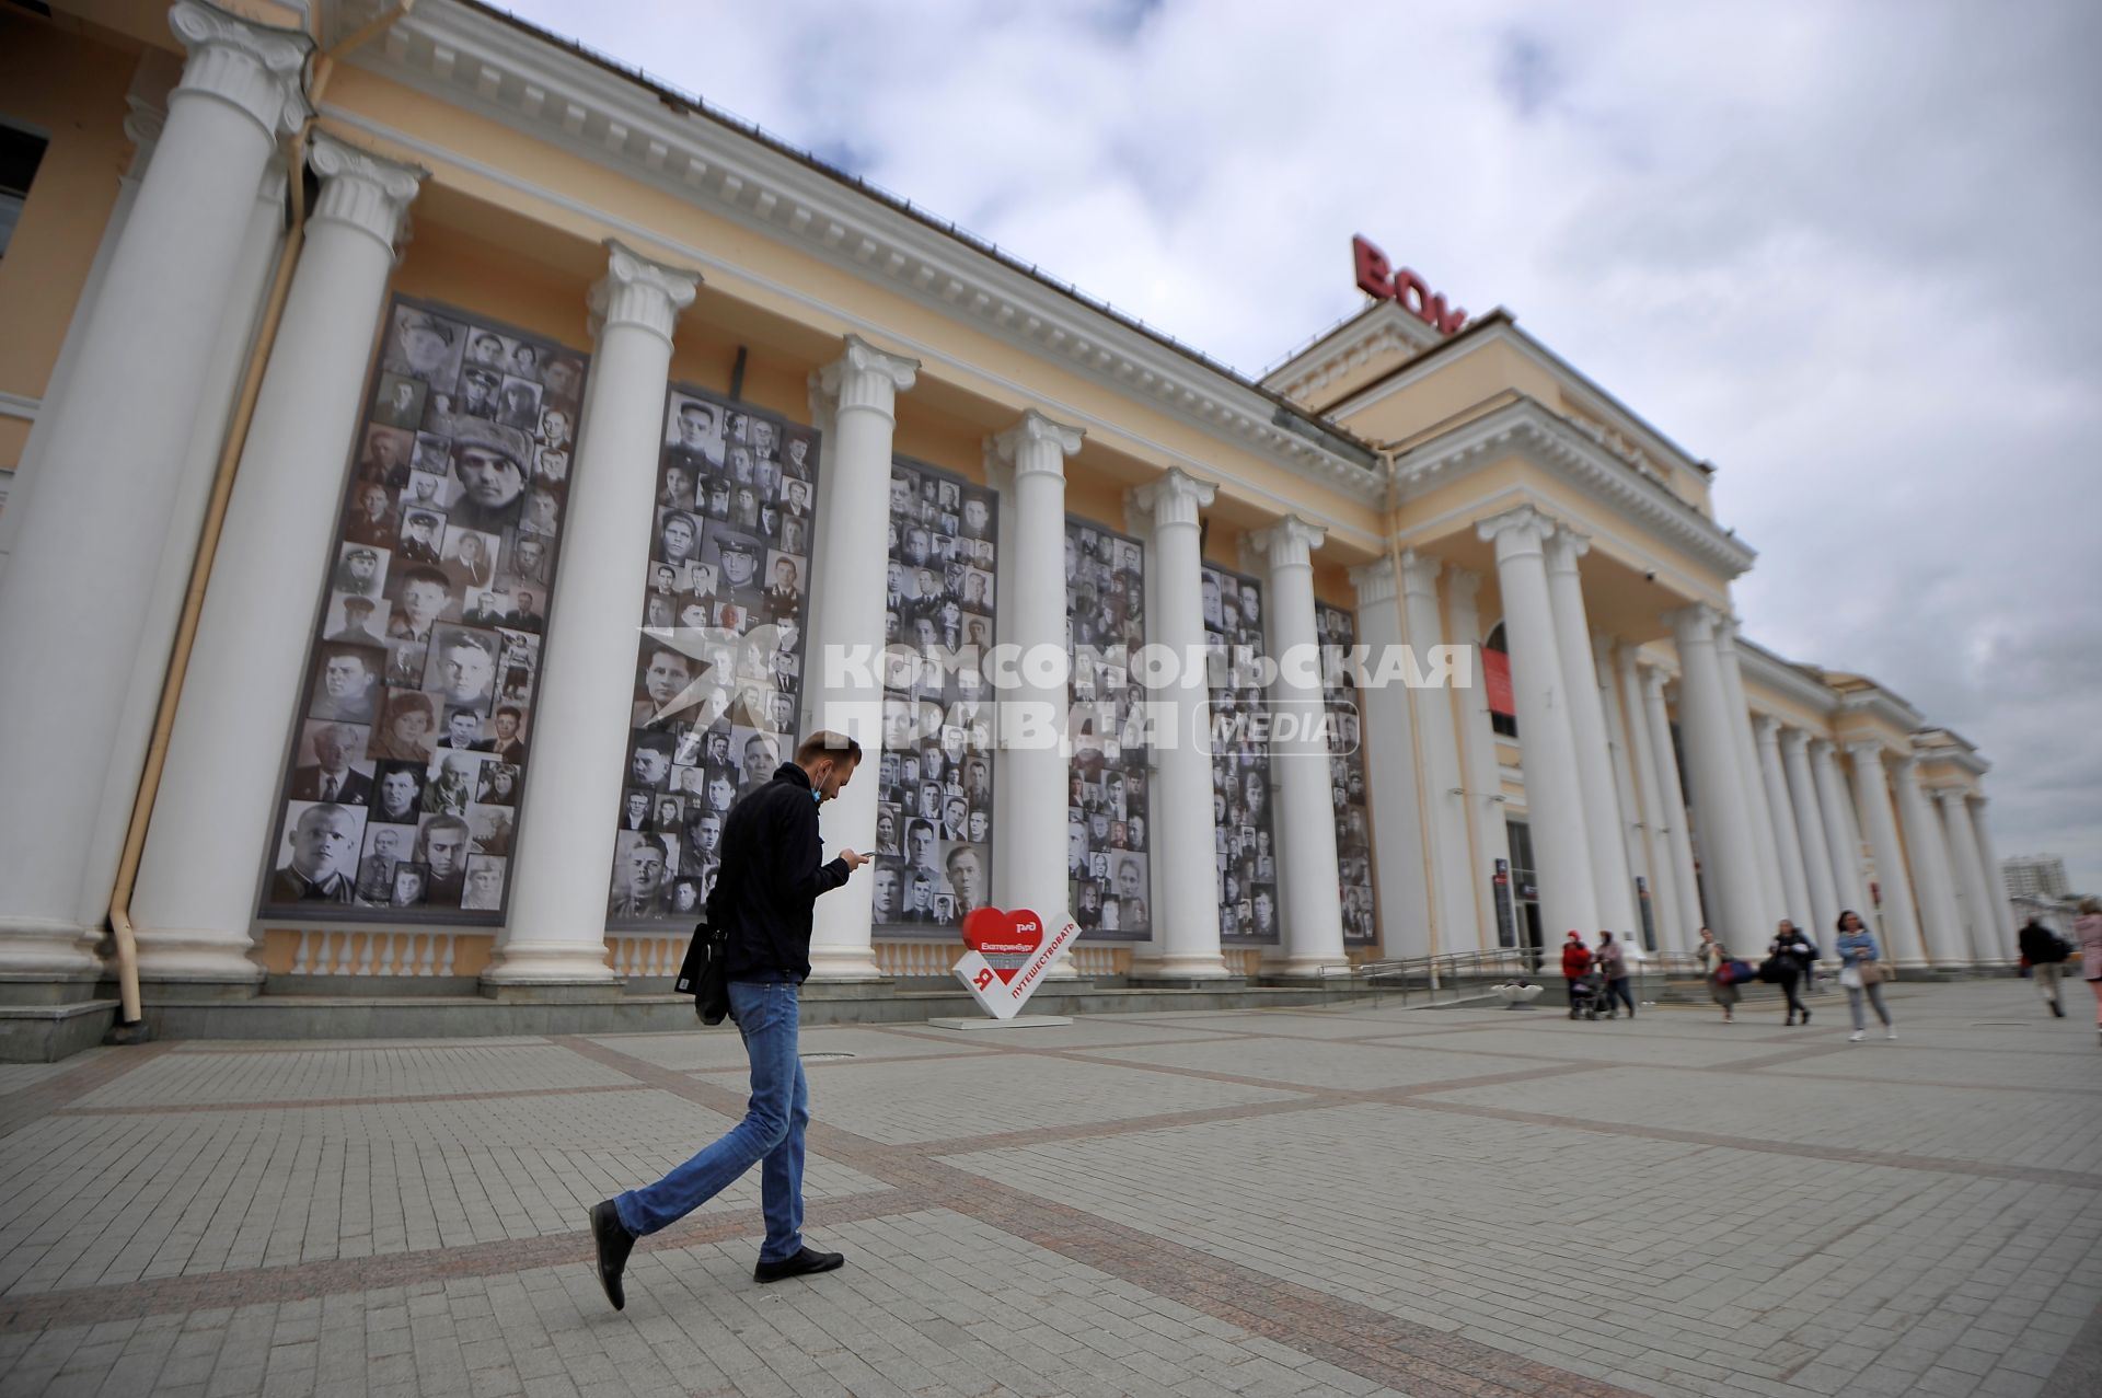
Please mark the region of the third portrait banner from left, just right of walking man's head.
[[883, 757], [874, 929], [956, 929], [992, 896], [992, 685], [998, 498], [891, 458], [883, 597]]

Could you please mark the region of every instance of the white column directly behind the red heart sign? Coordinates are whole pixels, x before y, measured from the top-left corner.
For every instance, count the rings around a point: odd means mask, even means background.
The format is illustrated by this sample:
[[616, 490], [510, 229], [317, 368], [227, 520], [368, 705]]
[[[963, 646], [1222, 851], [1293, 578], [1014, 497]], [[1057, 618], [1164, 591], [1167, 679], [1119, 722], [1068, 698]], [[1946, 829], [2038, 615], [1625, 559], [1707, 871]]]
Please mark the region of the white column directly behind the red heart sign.
[[[1005, 788], [1005, 826], [994, 830], [1005, 856], [1003, 908], [1028, 908], [1047, 927], [1072, 917], [1066, 906], [1066, 772], [1059, 744], [1066, 732], [1066, 458], [1080, 450], [1083, 431], [1024, 412], [1015, 427], [994, 437], [994, 452], [1013, 467], [1011, 553], [1001, 557], [1005, 603], [1003, 645], [1017, 645], [1019, 685], [1001, 692], [1007, 713], [1028, 706], [1034, 740], [1009, 742], [1003, 723], [998, 786]], [[1072, 975], [1072, 948], [1059, 952], [1051, 975]]]

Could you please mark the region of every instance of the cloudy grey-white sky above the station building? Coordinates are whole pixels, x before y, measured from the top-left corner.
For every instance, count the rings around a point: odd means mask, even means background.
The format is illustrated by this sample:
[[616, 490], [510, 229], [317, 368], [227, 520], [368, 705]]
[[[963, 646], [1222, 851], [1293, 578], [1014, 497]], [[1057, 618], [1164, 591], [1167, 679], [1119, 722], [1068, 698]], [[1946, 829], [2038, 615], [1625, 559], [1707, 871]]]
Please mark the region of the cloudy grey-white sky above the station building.
[[521, 0], [1259, 374], [1349, 235], [1717, 462], [1736, 599], [2102, 891], [2102, 6]]

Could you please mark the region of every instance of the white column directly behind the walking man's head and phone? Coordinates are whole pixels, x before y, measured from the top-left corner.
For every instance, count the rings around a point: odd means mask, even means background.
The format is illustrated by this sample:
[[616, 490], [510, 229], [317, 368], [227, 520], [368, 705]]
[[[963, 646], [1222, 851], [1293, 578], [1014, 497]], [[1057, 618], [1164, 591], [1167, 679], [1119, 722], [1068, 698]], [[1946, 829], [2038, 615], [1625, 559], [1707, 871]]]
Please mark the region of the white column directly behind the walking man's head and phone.
[[[877, 757], [883, 753], [883, 593], [889, 561], [883, 521], [889, 517], [891, 435], [898, 395], [912, 387], [919, 359], [877, 349], [858, 334], [847, 351], [818, 376], [830, 399], [832, 439], [830, 511], [818, 521], [824, 591], [811, 597], [809, 656], [816, 679], [805, 679], [803, 732], [832, 729], [862, 744], [866, 772], [856, 774], [822, 809], [820, 828], [830, 849], [877, 847]], [[1064, 559], [1064, 547], [1059, 549]], [[1064, 570], [1064, 563], [1059, 566]], [[1064, 576], [1064, 572], [1059, 574]], [[805, 666], [805, 675], [811, 669]], [[994, 837], [998, 839], [998, 837]], [[1059, 837], [1059, 849], [1066, 847]], [[881, 980], [870, 942], [874, 904], [866, 879], [818, 900], [809, 938], [811, 980]]]

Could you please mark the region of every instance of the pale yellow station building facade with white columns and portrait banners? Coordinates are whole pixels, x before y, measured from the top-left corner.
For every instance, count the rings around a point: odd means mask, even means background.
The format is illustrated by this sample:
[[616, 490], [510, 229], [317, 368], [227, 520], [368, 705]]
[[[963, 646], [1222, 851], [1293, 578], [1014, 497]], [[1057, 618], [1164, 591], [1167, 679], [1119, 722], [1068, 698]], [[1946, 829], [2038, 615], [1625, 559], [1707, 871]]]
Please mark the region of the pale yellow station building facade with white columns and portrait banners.
[[[988, 902], [1194, 982], [1841, 908], [2012, 957], [1984, 759], [1740, 635], [1715, 469], [1509, 313], [1379, 299], [1257, 383], [475, 4], [50, 11], [0, 17], [17, 1001], [111, 919], [149, 1001], [664, 975], [820, 717], [877, 854], [826, 980]], [[969, 645], [1068, 656], [1001, 694], [1064, 748], [898, 658]], [[1427, 683], [1240, 664], [1295, 645]]]

